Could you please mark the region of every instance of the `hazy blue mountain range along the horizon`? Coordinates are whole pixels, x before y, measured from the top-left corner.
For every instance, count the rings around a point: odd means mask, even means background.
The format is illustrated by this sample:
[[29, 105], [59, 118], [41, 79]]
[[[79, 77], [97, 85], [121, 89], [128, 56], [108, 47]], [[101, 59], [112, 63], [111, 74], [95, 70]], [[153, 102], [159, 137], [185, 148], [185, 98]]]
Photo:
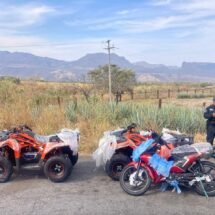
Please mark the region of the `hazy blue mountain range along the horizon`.
[[[87, 54], [75, 61], [63, 61], [29, 53], [0, 51], [0, 76], [78, 81], [83, 80], [90, 70], [107, 62], [108, 55], [105, 53]], [[215, 63], [183, 62], [180, 67], [145, 61], [131, 63], [116, 54], [111, 54], [111, 63], [135, 71], [139, 82], [215, 82]]]

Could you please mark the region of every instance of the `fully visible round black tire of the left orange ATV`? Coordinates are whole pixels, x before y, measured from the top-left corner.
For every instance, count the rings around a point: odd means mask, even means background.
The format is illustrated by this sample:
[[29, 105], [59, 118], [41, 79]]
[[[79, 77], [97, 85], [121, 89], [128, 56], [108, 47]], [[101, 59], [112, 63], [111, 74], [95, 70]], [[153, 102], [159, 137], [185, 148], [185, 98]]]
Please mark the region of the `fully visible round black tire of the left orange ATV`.
[[50, 157], [44, 165], [44, 173], [52, 182], [65, 181], [72, 171], [70, 159], [63, 156]]

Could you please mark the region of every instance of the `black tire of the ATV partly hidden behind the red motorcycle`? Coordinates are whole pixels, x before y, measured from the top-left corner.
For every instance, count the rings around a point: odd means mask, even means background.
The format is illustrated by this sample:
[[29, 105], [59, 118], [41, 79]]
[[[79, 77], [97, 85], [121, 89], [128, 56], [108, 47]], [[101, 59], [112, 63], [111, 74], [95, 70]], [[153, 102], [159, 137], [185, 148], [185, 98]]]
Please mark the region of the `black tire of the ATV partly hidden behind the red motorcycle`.
[[108, 176], [115, 181], [119, 181], [120, 173], [123, 168], [131, 161], [131, 159], [124, 154], [114, 154], [105, 165], [105, 171]]

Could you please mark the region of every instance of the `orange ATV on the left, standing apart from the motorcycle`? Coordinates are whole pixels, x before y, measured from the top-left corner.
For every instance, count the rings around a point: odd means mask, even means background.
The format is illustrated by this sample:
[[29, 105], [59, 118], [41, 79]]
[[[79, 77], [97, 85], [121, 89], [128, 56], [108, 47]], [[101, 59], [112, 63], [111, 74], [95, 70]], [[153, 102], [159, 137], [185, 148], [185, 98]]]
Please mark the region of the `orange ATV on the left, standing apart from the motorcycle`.
[[0, 132], [0, 182], [10, 179], [13, 169], [43, 170], [53, 182], [70, 175], [78, 160], [79, 132], [62, 129], [60, 133], [40, 136], [28, 126]]

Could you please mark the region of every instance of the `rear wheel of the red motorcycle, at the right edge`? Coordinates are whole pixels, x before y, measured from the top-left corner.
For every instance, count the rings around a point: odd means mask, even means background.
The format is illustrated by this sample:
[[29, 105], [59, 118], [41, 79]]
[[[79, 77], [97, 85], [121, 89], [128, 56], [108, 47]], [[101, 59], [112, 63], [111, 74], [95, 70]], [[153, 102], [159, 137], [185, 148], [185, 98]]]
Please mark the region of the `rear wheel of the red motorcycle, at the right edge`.
[[202, 196], [205, 196], [205, 192], [208, 196], [215, 196], [215, 164], [202, 161], [201, 165], [196, 166], [195, 171], [198, 171], [206, 178], [202, 183], [196, 183], [195, 191]]

